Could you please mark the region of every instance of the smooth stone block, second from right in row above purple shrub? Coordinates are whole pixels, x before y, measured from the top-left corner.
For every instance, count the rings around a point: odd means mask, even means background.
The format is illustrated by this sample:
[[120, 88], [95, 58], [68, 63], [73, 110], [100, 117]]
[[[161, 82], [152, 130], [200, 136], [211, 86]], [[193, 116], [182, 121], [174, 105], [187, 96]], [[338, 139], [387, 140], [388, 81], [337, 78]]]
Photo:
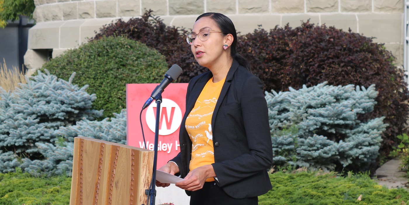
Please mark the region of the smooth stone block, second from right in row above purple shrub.
[[334, 26], [337, 29], [348, 32], [351, 28], [352, 32], [358, 32], [357, 18], [355, 14], [321, 14], [321, 25], [325, 24], [327, 27]]

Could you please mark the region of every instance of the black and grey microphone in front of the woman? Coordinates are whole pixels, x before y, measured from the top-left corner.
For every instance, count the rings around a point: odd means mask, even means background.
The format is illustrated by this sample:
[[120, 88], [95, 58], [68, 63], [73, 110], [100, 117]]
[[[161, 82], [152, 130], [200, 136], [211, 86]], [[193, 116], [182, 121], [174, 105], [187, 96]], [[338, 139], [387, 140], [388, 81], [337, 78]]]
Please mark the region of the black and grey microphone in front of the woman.
[[152, 101], [156, 99], [157, 95], [163, 93], [165, 88], [179, 77], [180, 73], [182, 73], [182, 68], [180, 68], [180, 66], [176, 64], [173, 64], [173, 66], [169, 68], [169, 70], [165, 73], [165, 77], [162, 82], [160, 82], [160, 84], [153, 90], [153, 92], [151, 93], [151, 97], [146, 100], [144, 106], [142, 106], [142, 110], [147, 108], [152, 103]]

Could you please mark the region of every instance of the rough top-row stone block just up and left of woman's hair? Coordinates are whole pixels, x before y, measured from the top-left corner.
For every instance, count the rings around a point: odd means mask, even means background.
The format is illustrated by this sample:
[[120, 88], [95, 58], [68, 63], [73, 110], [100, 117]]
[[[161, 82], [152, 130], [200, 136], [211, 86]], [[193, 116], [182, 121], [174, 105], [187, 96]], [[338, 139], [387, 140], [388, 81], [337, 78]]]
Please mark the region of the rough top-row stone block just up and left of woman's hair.
[[198, 0], [169, 0], [169, 15], [200, 15], [205, 12], [205, 3]]

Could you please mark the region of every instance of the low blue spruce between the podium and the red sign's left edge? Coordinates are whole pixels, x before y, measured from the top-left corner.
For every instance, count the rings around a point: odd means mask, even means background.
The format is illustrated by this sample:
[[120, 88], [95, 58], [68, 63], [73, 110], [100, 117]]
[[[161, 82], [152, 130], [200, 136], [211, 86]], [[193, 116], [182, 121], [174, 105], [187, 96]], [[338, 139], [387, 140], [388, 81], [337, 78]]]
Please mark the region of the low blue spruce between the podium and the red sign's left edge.
[[24, 159], [25, 171], [36, 174], [72, 175], [72, 160], [74, 154], [74, 137], [83, 136], [94, 139], [126, 144], [126, 110], [113, 113], [111, 119], [91, 121], [83, 119], [76, 125], [62, 126], [53, 132], [57, 136], [55, 143], [36, 143], [43, 154], [43, 160]]

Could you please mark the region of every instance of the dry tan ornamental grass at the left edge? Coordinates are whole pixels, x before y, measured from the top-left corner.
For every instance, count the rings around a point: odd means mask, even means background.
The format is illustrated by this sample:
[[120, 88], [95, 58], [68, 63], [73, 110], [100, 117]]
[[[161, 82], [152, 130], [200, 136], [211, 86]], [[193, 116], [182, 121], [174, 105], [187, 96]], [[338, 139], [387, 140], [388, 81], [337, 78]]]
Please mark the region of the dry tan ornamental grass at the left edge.
[[6, 91], [13, 91], [19, 83], [27, 83], [23, 73], [17, 67], [7, 69], [6, 61], [0, 63], [0, 87]]

